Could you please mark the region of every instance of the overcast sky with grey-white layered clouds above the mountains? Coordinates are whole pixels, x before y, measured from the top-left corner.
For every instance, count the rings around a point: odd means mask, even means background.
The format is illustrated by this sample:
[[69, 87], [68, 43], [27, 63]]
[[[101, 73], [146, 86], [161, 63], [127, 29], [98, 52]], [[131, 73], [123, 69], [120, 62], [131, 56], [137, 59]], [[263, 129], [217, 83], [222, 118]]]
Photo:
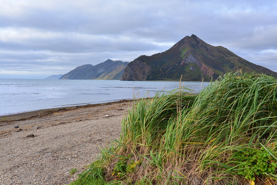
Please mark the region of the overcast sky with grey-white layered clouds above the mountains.
[[275, 0], [0, 0], [0, 78], [131, 62], [192, 34], [277, 72]]

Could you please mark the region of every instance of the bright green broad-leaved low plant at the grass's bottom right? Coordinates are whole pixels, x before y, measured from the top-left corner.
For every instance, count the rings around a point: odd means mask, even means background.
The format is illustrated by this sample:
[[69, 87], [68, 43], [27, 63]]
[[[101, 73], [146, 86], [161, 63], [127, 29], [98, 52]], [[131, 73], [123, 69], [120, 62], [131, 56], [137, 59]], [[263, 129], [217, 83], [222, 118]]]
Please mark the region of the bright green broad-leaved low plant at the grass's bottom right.
[[235, 154], [237, 159], [239, 175], [248, 180], [255, 180], [255, 176], [275, 174], [277, 164], [276, 151], [272, 149], [251, 149], [248, 151], [239, 151]]

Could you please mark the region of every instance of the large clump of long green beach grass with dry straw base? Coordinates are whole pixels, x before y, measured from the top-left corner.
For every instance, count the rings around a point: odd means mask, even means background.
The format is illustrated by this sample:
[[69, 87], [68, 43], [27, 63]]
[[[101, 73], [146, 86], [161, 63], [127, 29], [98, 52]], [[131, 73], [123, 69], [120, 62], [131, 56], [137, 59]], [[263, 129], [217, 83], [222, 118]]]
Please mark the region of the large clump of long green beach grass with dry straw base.
[[82, 178], [110, 184], [276, 184], [277, 79], [227, 73], [134, 100], [121, 136]]

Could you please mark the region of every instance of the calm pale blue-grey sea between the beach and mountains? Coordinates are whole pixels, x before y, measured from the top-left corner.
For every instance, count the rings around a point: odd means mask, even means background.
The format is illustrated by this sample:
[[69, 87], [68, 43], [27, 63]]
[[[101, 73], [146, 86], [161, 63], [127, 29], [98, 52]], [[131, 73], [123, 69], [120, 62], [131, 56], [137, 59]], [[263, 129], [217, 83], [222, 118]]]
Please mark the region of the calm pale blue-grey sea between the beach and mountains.
[[[199, 92], [209, 83], [182, 82]], [[178, 88], [179, 82], [117, 80], [0, 79], [0, 115], [40, 109], [113, 102]], [[148, 92], [148, 93], [147, 93]]]

